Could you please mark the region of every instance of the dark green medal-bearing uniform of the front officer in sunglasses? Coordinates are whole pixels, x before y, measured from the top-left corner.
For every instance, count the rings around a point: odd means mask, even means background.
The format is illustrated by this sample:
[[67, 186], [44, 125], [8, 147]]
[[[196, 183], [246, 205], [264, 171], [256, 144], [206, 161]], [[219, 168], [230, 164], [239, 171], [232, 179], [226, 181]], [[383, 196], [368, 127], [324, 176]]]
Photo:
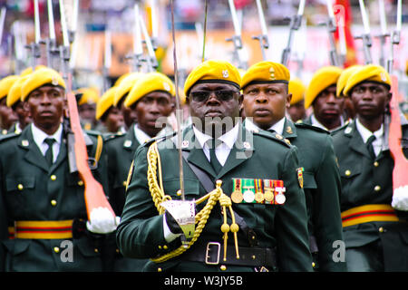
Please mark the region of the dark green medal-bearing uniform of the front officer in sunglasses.
[[[189, 163], [207, 172], [214, 183], [217, 179], [222, 180], [221, 188], [228, 197], [235, 191], [233, 183], [237, 184], [239, 181], [283, 180], [286, 188], [284, 204], [262, 203], [262, 201], [232, 204], [233, 210], [251, 229], [249, 236], [244, 228], [238, 231], [238, 250], [241, 250], [239, 260], [234, 257], [232, 237], [228, 239], [226, 262], [222, 260], [222, 254], [213, 256], [210, 261], [205, 258], [210, 248], [213, 253], [214, 251], [217, 253], [217, 249], [220, 250], [222, 247], [220, 227], [223, 219], [220, 215], [221, 208], [215, 205], [196, 244], [180, 256], [175, 256], [163, 263], [151, 261], [144, 270], [253, 271], [255, 266], [254, 262], [249, 261], [251, 259], [257, 261], [259, 268], [266, 266], [268, 270], [277, 268], [280, 271], [312, 270], [307, 240], [305, 197], [296, 178], [296, 169], [298, 169], [296, 148], [267, 132], [254, 132], [252, 135], [252, 132], [240, 126], [238, 131], [238, 140], [219, 174], [211, 167], [203, 150], [199, 148], [192, 126], [183, 131], [182, 150], [188, 155]], [[246, 139], [245, 136], [253, 136], [253, 139]], [[171, 198], [180, 199], [176, 194], [180, 189], [179, 170], [174, 168], [179, 160], [178, 150], [172, 138], [161, 138], [158, 142], [163, 190]], [[180, 239], [168, 243], [163, 237], [163, 215], [158, 215], [151, 198], [147, 177], [149, 168], [147, 152], [151, 145], [152, 141], [145, 143], [136, 152], [136, 162], [132, 169], [121, 224], [117, 229], [118, 245], [125, 256], [155, 258], [180, 247]], [[274, 153], [270, 154], [270, 152]], [[183, 169], [186, 198], [198, 199], [206, 195], [208, 191], [203, 188], [202, 183], [185, 161], [183, 161]], [[197, 212], [201, 208], [202, 205], [199, 205]], [[265, 253], [265, 251], [274, 253], [276, 251], [275, 263], [270, 260], [270, 255], [257, 257], [257, 253]], [[249, 253], [252, 254], [249, 255]]]

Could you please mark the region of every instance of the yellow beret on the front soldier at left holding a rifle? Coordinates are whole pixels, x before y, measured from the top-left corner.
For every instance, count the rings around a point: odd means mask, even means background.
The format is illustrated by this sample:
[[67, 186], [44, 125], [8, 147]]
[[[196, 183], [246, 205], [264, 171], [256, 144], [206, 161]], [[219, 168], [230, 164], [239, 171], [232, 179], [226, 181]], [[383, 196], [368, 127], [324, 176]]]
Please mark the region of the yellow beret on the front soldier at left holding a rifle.
[[29, 74], [21, 88], [21, 101], [24, 101], [30, 92], [42, 87], [44, 84], [60, 85], [65, 89], [65, 82], [60, 73], [50, 68], [40, 68]]

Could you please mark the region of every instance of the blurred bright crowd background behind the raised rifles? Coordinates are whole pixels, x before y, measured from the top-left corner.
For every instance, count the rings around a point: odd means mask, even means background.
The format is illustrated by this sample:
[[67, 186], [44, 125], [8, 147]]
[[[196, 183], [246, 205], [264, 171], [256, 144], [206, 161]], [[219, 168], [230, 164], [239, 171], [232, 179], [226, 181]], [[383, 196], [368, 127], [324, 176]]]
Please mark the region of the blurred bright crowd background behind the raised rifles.
[[[118, 79], [122, 74], [131, 71], [129, 61], [125, 56], [132, 52], [132, 29], [134, 25], [134, 0], [82, 0], [79, 1], [77, 32], [73, 43], [72, 69], [74, 73], [73, 89], [80, 87], [95, 87], [102, 94], [103, 78], [108, 84]], [[148, 30], [157, 34], [158, 49], [156, 56], [160, 63], [159, 71], [173, 76], [172, 44], [170, 34], [170, 1], [141, 1], [141, 13], [144, 14]], [[157, 7], [158, 19], [156, 32], [152, 32], [151, 4]], [[204, 1], [177, 0], [175, 3], [176, 39], [179, 45], [179, 68], [181, 72], [189, 71], [201, 62], [202, 26], [204, 24]], [[234, 27], [229, 11], [228, 1], [209, 0], [209, 13], [206, 33], [206, 59], [219, 58], [233, 62], [233, 45], [226, 38], [234, 34]], [[270, 0], [261, 1], [267, 21], [269, 48], [266, 51], [267, 60], [280, 62], [281, 54], [287, 45], [290, 17], [296, 14], [299, 1]], [[387, 31], [391, 33], [395, 27], [396, 0], [384, 0]], [[262, 60], [260, 45], [252, 36], [260, 34], [257, 5], [255, 1], [236, 0], [235, 5], [242, 26], [243, 61], [248, 66]], [[345, 29], [353, 36], [363, 34], [364, 27], [357, 0], [337, 0], [333, 5], [345, 7]], [[378, 63], [381, 34], [379, 6], [377, 1], [365, 1], [371, 34], [373, 38], [372, 55], [374, 63]], [[2, 0], [1, 7], [6, 7], [5, 27], [0, 46], [0, 76], [21, 73], [30, 66], [29, 51], [24, 44], [34, 41], [34, 1]], [[42, 38], [49, 34], [46, 1], [39, 1]], [[57, 43], [62, 43], [59, 5], [53, 0], [53, 14]], [[336, 14], [336, 17], [338, 14]], [[324, 0], [307, 0], [304, 14], [304, 24], [296, 31], [292, 43], [292, 53], [288, 68], [292, 76], [299, 77], [306, 84], [313, 73], [324, 65], [330, 64], [330, 43], [325, 25], [327, 7]], [[407, 29], [408, 3], [403, 1], [403, 28], [401, 42], [394, 45], [394, 73], [399, 77], [400, 90], [407, 92], [407, 62], [408, 39]], [[106, 32], [110, 32], [111, 62], [108, 73], [103, 76], [104, 42]], [[154, 36], [154, 35], [153, 35]], [[15, 42], [15, 39], [21, 41]], [[337, 38], [338, 40], [338, 38]], [[339, 43], [336, 42], [337, 51]], [[347, 56], [345, 66], [364, 63], [363, 43], [361, 40], [347, 40]], [[385, 57], [390, 53], [390, 40], [384, 47]], [[46, 63], [45, 47], [42, 45], [42, 58], [38, 63]], [[182, 85], [182, 84], [180, 84]], [[106, 87], [105, 87], [106, 88]], [[403, 93], [406, 95], [406, 93]]]

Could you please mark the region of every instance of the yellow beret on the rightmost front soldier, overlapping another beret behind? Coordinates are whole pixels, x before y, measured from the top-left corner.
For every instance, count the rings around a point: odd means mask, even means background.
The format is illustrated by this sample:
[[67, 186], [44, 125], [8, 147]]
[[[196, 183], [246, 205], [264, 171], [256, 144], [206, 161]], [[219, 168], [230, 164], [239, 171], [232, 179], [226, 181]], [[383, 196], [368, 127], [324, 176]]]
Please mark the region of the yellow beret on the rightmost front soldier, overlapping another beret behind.
[[351, 90], [360, 82], [380, 82], [391, 87], [390, 75], [384, 67], [375, 64], [366, 64], [350, 75], [345, 84], [343, 93], [348, 96]]

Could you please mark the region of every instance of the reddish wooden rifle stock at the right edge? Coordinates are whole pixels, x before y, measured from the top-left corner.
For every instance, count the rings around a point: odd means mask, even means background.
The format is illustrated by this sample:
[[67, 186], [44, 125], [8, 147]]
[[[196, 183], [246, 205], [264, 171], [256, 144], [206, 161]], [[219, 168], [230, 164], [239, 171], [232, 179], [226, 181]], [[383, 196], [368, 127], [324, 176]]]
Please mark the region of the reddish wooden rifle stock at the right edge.
[[394, 161], [393, 189], [395, 190], [408, 185], [408, 180], [406, 179], [406, 173], [408, 172], [408, 160], [403, 155], [403, 149], [401, 146], [403, 131], [401, 129], [401, 117], [398, 108], [398, 79], [395, 75], [392, 75], [391, 78], [391, 92], [393, 93], [393, 96], [390, 102], [391, 122], [388, 134], [388, 145]]

